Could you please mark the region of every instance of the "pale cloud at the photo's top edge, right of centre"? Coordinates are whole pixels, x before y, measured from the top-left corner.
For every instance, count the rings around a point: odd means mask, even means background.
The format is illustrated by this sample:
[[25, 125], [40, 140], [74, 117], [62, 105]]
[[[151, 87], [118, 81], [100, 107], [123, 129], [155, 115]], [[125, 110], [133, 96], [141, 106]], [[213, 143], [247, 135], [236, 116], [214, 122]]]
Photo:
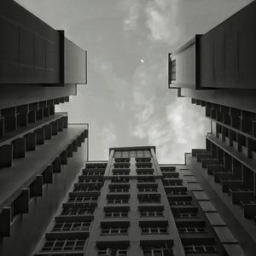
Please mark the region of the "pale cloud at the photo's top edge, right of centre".
[[147, 4], [145, 13], [147, 26], [150, 30], [149, 38], [166, 44], [175, 44], [179, 37], [176, 24], [177, 0], [154, 0]]

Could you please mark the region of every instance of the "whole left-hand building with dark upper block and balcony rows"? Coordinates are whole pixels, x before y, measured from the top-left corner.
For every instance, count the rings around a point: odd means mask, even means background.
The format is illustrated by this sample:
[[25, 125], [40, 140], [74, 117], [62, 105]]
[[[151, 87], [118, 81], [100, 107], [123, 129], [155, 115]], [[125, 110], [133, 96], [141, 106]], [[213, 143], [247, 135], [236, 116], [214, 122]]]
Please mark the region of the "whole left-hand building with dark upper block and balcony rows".
[[87, 83], [86, 51], [13, 0], [0, 3], [0, 255], [31, 255], [84, 160], [87, 124], [55, 105]]

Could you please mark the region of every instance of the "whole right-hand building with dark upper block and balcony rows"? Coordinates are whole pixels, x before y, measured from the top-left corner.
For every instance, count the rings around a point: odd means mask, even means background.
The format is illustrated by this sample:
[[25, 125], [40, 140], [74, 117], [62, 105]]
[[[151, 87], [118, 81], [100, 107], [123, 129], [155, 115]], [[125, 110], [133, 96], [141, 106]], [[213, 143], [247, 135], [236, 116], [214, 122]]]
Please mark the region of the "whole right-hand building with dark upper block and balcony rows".
[[[256, 2], [169, 55], [169, 88], [206, 109], [206, 148], [186, 163], [240, 242], [256, 251]], [[234, 254], [235, 255], [235, 254]]]

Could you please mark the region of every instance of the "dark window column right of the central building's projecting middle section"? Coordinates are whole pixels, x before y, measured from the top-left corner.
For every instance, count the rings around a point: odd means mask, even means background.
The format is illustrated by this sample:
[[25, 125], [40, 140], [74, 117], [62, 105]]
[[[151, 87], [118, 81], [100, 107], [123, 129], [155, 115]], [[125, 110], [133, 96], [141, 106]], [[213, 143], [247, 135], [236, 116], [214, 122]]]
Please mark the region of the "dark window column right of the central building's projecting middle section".
[[[218, 247], [208, 230], [205, 218], [201, 216], [191, 192], [183, 185], [176, 168], [160, 166], [163, 173], [163, 184], [172, 210], [177, 231], [186, 254], [218, 253]], [[166, 172], [163, 172], [166, 171]], [[170, 173], [174, 174], [170, 178]]]

